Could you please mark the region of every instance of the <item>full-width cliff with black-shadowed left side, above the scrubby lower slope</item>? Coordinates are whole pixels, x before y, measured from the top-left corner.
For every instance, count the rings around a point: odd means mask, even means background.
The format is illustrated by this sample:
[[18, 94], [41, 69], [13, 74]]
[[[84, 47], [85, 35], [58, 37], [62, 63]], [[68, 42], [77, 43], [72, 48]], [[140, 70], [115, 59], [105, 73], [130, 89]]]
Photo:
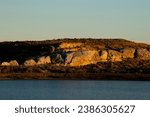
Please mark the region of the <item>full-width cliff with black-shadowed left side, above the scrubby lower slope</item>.
[[[53, 56], [50, 52], [51, 47], [55, 48]], [[98, 62], [121, 62], [126, 59], [150, 60], [150, 45], [124, 39], [2, 42], [0, 50], [1, 65], [30, 66], [47, 63], [60, 64], [61, 61], [64, 66], [84, 66]], [[52, 62], [52, 57], [58, 60]], [[14, 64], [10, 64], [10, 62], [13, 63], [12, 60], [15, 60]]]

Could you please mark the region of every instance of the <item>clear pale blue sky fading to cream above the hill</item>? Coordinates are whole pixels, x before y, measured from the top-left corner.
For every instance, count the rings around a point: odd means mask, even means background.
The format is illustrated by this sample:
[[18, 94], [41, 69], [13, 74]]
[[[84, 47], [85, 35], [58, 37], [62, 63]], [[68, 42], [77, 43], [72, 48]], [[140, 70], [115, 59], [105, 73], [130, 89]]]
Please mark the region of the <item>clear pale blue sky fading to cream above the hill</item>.
[[0, 41], [65, 37], [150, 43], [150, 0], [0, 0]]

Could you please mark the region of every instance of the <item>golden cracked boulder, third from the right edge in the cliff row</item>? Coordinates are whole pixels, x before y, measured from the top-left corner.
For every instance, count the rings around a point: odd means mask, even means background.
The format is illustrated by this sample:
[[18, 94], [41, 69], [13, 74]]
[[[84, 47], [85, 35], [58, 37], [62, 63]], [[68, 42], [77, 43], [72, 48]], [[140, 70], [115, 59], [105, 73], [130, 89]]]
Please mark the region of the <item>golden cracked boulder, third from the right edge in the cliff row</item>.
[[122, 53], [115, 50], [108, 50], [108, 59], [112, 62], [122, 61]]

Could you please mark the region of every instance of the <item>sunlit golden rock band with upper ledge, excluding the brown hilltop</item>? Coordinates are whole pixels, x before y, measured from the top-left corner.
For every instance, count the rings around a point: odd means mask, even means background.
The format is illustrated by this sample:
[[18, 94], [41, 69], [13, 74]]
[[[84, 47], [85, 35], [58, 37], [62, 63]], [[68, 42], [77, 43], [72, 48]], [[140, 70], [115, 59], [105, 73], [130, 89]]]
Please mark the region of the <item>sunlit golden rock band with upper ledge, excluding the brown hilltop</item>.
[[83, 66], [107, 61], [121, 62], [125, 59], [135, 58], [141, 60], [150, 59], [150, 52], [146, 49], [136, 50], [134, 46], [123, 47], [119, 45], [111, 48], [111, 46], [113, 47], [113, 45], [107, 47], [104, 43], [95, 43], [95, 45], [92, 45], [90, 43], [64, 42], [59, 47], [67, 52], [65, 65], [68, 66]]

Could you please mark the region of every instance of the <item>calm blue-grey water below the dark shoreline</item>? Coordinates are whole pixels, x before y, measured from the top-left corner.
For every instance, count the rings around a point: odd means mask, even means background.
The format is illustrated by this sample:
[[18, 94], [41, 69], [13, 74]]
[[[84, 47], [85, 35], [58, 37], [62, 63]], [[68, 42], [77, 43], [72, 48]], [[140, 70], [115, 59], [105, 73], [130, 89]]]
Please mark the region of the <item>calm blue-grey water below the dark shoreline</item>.
[[150, 99], [149, 81], [8, 80], [0, 99]]

